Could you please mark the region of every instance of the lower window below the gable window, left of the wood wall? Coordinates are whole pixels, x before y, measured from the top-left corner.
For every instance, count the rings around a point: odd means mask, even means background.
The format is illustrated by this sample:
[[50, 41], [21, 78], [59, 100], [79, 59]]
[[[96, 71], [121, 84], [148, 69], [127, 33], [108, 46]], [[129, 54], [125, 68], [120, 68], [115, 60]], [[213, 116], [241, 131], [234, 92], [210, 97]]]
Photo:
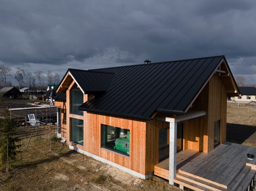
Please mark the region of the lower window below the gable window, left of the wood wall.
[[71, 119], [71, 141], [83, 145], [83, 120]]

